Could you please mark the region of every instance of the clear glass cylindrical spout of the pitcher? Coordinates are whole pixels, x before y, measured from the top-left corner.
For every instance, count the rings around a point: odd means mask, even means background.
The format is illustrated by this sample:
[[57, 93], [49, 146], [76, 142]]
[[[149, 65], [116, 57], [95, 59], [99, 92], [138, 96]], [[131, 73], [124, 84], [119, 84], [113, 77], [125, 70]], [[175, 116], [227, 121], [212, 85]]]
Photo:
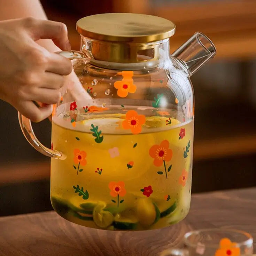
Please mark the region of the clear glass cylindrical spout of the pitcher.
[[212, 41], [203, 33], [196, 32], [172, 56], [182, 60], [189, 76], [192, 76], [215, 54], [216, 48]]

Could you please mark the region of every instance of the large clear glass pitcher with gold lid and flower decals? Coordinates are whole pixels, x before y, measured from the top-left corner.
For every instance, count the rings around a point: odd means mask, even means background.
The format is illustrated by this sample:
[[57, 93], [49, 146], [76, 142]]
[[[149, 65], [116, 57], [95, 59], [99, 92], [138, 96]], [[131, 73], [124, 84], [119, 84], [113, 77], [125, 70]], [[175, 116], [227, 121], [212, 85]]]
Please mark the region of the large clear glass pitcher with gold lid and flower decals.
[[54, 210], [106, 230], [179, 222], [191, 198], [189, 77], [215, 55], [215, 46], [197, 32], [170, 55], [175, 25], [141, 14], [84, 17], [77, 31], [81, 52], [59, 53], [70, 58], [75, 73], [53, 108], [51, 149], [18, 113], [26, 139], [52, 157]]

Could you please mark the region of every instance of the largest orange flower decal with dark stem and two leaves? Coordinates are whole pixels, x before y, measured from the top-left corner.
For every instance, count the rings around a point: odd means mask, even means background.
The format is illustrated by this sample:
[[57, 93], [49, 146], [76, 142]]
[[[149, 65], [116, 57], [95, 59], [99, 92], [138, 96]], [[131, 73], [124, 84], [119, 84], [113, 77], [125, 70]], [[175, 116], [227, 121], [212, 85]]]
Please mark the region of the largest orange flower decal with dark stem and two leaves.
[[[169, 172], [172, 168], [172, 165], [168, 167], [166, 170], [165, 161], [170, 161], [172, 158], [172, 150], [169, 149], [169, 141], [163, 140], [160, 145], [154, 145], [149, 149], [149, 155], [154, 158], [154, 165], [159, 167], [164, 164], [165, 177], [168, 179], [167, 172]], [[162, 175], [162, 171], [158, 171], [158, 174]]]

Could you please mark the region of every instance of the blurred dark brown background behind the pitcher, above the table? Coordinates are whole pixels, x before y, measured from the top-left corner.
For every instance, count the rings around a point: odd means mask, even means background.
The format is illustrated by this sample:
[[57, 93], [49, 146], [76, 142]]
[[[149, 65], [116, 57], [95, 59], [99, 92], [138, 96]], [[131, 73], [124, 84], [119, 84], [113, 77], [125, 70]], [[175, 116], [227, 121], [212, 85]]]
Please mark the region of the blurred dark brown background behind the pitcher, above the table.
[[[192, 193], [256, 186], [255, 0], [41, 0], [50, 20], [68, 26], [79, 50], [76, 21], [87, 15], [129, 12], [157, 15], [176, 24], [171, 50], [196, 31], [217, 55], [193, 77], [195, 138]], [[0, 216], [51, 210], [50, 159], [23, 137], [17, 113], [0, 101]], [[51, 123], [34, 124], [46, 146]]]

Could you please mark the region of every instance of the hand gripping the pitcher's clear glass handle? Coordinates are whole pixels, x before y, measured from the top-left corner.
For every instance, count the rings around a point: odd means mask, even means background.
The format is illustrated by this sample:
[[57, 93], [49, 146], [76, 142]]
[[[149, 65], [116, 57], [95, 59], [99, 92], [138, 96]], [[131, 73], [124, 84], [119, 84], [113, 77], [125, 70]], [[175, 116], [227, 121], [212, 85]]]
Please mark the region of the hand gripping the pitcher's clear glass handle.
[[[70, 50], [63, 23], [34, 18], [0, 22], [0, 98], [33, 122], [51, 115], [51, 104], [61, 99], [64, 76], [72, 71], [67, 58], [35, 42], [40, 38]], [[33, 101], [46, 104], [38, 108]]]

